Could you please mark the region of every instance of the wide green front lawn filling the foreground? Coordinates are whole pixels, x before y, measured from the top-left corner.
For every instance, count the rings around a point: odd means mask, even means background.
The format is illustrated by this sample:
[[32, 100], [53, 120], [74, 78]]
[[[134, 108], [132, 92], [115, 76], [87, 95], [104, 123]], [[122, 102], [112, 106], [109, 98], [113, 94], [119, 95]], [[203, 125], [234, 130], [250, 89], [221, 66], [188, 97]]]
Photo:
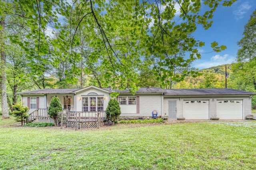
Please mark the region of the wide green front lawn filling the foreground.
[[255, 125], [0, 128], [0, 169], [255, 169]]

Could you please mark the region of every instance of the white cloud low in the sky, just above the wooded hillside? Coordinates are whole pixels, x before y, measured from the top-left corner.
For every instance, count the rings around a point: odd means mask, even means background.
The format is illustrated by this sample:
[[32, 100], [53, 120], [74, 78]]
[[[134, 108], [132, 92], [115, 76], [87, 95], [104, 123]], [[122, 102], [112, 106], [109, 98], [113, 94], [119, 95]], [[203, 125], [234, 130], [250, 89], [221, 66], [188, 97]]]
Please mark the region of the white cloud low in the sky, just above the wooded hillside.
[[192, 66], [195, 68], [203, 69], [222, 64], [231, 64], [234, 61], [236, 61], [236, 57], [230, 56], [228, 54], [225, 54], [224, 56], [214, 55], [211, 57], [210, 61], [202, 61], [202, 59], [200, 59], [194, 62]]

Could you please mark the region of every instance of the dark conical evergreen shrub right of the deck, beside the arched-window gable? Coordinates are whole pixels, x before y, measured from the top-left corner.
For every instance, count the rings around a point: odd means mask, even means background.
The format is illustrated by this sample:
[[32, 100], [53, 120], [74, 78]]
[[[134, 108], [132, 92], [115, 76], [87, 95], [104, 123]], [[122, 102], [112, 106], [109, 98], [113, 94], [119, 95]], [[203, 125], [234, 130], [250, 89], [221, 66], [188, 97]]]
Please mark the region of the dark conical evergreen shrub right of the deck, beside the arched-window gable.
[[112, 121], [112, 125], [114, 125], [116, 119], [119, 118], [121, 114], [121, 109], [116, 98], [110, 99], [108, 102], [108, 107], [106, 108], [106, 118]]

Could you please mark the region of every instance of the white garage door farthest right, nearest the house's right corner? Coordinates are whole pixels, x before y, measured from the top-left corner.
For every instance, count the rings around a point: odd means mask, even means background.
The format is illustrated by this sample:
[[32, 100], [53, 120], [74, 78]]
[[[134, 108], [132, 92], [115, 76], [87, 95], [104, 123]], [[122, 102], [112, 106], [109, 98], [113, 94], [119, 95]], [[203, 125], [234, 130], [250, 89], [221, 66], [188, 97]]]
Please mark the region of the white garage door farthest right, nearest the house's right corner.
[[217, 100], [217, 117], [220, 119], [243, 119], [242, 100]]

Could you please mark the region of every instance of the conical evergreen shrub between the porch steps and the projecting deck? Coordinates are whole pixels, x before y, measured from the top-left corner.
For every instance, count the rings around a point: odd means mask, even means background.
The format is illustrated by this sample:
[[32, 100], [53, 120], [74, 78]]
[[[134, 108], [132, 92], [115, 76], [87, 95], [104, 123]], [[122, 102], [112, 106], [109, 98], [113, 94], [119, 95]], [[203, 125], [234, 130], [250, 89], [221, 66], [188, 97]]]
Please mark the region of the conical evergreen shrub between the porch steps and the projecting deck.
[[60, 99], [54, 96], [50, 102], [48, 114], [52, 119], [54, 119], [55, 126], [57, 126], [58, 113], [60, 113], [61, 111], [62, 111], [62, 105], [60, 103]]

